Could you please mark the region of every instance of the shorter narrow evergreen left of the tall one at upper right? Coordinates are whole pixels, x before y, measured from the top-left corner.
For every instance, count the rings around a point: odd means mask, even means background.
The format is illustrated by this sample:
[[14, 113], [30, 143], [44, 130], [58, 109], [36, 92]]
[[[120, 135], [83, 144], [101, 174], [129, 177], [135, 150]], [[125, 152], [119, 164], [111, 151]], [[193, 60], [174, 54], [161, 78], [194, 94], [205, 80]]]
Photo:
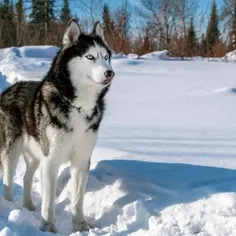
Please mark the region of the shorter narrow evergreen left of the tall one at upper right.
[[193, 56], [197, 49], [197, 36], [194, 28], [193, 18], [191, 18], [190, 26], [187, 33], [187, 54]]

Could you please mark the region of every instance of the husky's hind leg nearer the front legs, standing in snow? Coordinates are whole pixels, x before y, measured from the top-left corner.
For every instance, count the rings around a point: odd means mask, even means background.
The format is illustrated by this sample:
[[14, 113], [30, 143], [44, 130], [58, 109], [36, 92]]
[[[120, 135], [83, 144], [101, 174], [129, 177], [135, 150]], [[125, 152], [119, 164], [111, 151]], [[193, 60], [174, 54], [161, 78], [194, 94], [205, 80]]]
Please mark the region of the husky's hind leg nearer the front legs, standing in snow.
[[23, 206], [30, 211], [35, 211], [35, 206], [32, 201], [32, 183], [35, 171], [39, 166], [39, 160], [32, 157], [30, 153], [24, 152], [24, 159], [26, 163], [26, 171], [24, 176], [24, 202]]

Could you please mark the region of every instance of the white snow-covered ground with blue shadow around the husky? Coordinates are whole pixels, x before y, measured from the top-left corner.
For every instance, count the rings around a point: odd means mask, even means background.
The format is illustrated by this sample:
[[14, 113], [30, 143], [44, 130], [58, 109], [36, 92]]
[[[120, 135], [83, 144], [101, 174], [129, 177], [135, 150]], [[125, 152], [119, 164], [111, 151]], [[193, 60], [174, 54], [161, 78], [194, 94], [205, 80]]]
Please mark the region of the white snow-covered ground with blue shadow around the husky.
[[[42, 78], [56, 51], [0, 50], [1, 90]], [[95, 228], [72, 233], [67, 165], [57, 189], [61, 235], [236, 235], [236, 64], [167, 59], [165, 52], [140, 60], [114, 56], [116, 78], [84, 203]], [[52, 235], [38, 230], [38, 172], [33, 187], [37, 211], [22, 208], [24, 170], [21, 160], [15, 203], [3, 199], [0, 179], [0, 236]]]

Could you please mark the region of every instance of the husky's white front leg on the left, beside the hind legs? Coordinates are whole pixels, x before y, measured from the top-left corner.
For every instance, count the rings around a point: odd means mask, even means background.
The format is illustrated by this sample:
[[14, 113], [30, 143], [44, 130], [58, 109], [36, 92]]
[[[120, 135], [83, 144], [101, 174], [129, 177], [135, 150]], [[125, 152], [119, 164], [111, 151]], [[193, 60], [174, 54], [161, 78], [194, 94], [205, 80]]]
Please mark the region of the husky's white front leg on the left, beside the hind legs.
[[45, 157], [41, 162], [42, 222], [40, 229], [57, 233], [55, 218], [55, 196], [59, 160]]

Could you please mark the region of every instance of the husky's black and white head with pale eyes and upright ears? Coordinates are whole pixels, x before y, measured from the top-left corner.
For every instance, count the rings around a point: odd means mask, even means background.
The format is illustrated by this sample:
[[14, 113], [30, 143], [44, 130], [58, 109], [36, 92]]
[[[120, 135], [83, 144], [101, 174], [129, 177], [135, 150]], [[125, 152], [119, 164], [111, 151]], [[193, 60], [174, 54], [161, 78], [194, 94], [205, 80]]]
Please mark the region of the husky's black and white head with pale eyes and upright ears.
[[110, 85], [115, 75], [111, 67], [111, 50], [99, 22], [90, 34], [84, 34], [72, 19], [63, 37], [63, 50], [69, 56], [68, 70], [74, 83]]

